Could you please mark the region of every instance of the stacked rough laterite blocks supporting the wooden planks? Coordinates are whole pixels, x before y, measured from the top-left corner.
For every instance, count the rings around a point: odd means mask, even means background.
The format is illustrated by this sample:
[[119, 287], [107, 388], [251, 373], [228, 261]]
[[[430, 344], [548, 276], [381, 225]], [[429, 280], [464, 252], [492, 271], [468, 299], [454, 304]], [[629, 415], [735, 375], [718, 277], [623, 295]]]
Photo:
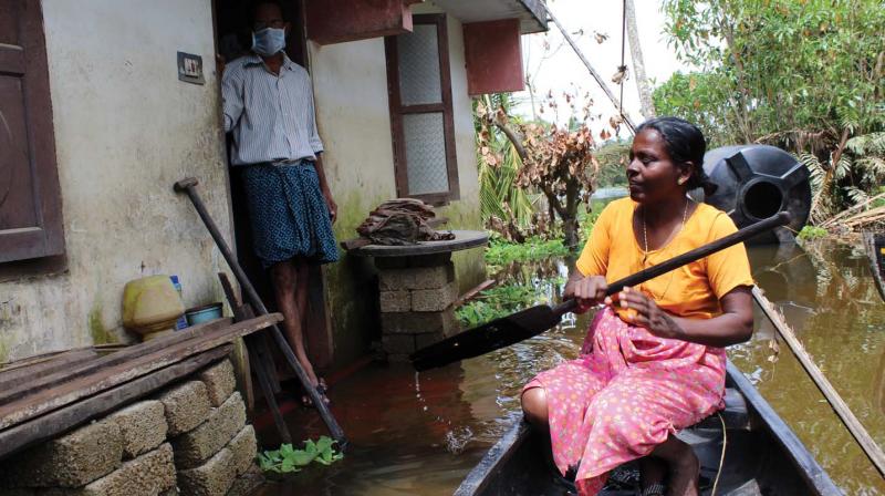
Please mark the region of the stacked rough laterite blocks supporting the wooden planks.
[[0, 495], [239, 496], [262, 476], [229, 360], [0, 461]]

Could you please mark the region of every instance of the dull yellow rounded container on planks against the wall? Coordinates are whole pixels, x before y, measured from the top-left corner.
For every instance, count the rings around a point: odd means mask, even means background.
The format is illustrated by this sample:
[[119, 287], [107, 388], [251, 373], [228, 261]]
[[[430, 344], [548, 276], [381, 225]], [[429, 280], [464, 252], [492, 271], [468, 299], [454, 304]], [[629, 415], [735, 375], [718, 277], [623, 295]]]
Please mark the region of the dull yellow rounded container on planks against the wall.
[[149, 276], [123, 289], [123, 327], [147, 341], [175, 329], [185, 306], [169, 276]]

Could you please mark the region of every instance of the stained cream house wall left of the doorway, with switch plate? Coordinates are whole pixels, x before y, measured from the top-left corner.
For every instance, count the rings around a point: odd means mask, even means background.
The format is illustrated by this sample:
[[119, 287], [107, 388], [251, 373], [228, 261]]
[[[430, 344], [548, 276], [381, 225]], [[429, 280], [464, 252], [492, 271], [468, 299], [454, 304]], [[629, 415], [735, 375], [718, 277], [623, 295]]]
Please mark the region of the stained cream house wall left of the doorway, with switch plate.
[[[197, 176], [230, 231], [211, 0], [43, 0], [43, 16], [67, 270], [0, 283], [0, 362], [131, 339], [122, 291], [142, 276], [220, 300], [223, 261], [175, 180]], [[178, 81], [179, 50], [202, 55], [205, 85]]]

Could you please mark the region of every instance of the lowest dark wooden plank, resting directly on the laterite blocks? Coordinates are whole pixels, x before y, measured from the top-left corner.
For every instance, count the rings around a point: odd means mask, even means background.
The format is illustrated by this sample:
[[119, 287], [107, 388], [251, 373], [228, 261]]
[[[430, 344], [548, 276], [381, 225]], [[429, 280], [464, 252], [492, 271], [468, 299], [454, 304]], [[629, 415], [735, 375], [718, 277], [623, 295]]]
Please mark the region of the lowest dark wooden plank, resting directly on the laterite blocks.
[[0, 432], [0, 458], [41, 441], [54, 437], [70, 428], [103, 416], [157, 391], [167, 384], [189, 375], [204, 366], [227, 356], [232, 347], [221, 347], [188, 358], [179, 363], [157, 370], [134, 381], [117, 385], [103, 393], [76, 402], [67, 407], [33, 418]]

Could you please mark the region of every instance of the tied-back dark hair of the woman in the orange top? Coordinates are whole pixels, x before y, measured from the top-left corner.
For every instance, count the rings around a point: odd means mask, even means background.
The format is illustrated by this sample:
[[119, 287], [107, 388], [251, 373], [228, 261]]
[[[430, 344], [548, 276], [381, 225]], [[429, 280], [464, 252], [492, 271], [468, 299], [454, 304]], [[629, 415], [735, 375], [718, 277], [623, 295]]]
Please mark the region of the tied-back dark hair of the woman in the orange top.
[[660, 133], [674, 163], [691, 164], [691, 177], [686, 183], [688, 189], [704, 188], [704, 194], [707, 196], [716, 193], [718, 186], [704, 172], [707, 141], [696, 125], [679, 117], [656, 117], [639, 124], [636, 134], [643, 130], [655, 130]]

